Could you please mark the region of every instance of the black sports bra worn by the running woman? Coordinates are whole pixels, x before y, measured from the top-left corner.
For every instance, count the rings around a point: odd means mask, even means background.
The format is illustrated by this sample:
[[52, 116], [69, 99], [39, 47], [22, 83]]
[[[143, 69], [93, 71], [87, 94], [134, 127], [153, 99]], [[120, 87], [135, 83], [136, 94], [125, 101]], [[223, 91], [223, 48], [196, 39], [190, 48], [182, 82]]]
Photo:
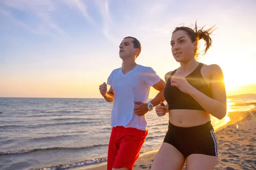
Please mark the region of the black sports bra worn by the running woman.
[[[203, 65], [203, 63], [199, 63], [198, 67], [191, 74], [186, 76], [185, 79], [198, 91], [201, 91], [205, 95], [212, 98], [212, 90], [206, 84], [201, 74], [201, 68]], [[175, 74], [176, 70], [172, 71], [172, 74], [167, 80], [166, 87], [164, 89], [164, 97], [169, 105], [169, 110], [188, 109], [205, 111], [204, 108], [192, 96], [183, 93], [180, 91], [180, 89], [171, 85], [171, 78], [173, 74]]]

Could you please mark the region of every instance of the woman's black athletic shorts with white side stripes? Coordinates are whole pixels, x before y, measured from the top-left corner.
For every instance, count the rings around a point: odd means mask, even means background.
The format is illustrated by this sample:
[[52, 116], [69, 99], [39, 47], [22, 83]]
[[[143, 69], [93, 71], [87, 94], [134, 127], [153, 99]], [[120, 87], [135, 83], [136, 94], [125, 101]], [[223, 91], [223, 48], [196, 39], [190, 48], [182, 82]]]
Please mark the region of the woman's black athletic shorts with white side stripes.
[[177, 127], [169, 122], [163, 142], [172, 144], [184, 157], [195, 153], [218, 156], [218, 142], [211, 121], [193, 127]]

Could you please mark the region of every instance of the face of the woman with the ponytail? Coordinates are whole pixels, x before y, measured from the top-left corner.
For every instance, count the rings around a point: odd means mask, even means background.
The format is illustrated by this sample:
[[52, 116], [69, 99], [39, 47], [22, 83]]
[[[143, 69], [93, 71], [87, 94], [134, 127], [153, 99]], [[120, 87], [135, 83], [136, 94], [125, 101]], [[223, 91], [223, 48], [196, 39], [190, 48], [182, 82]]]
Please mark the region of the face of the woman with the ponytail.
[[195, 57], [197, 42], [192, 42], [186, 31], [178, 30], [172, 34], [172, 55], [177, 62], [187, 62]]

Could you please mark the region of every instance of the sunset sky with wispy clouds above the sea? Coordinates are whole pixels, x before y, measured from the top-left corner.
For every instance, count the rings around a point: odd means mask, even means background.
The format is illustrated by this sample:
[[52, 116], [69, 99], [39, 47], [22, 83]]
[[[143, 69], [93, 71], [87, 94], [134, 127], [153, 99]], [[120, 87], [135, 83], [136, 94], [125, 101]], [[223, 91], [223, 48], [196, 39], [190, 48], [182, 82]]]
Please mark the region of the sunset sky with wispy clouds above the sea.
[[256, 93], [255, 9], [255, 0], [1, 0], [0, 97], [102, 98], [127, 36], [142, 44], [137, 64], [164, 79], [179, 67], [171, 32], [196, 20], [217, 28], [199, 62], [221, 67], [227, 95]]

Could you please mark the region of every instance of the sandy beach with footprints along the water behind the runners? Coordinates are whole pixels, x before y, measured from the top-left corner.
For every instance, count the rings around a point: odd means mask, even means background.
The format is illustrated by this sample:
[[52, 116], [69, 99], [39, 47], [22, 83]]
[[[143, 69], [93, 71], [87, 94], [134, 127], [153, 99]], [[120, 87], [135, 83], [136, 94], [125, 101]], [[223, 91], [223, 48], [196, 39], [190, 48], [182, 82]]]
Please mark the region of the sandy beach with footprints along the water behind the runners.
[[[256, 109], [229, 113], [229, 117], [230, 122], [227, 125], [215, 130], [219, 151], [215, 170], [255, 170]], [[134, 165], [134, 170], [149, 170], [156, 154], [157, 150], [141, 154]], [[106, 163], [75, 169], [106, 170]]]

